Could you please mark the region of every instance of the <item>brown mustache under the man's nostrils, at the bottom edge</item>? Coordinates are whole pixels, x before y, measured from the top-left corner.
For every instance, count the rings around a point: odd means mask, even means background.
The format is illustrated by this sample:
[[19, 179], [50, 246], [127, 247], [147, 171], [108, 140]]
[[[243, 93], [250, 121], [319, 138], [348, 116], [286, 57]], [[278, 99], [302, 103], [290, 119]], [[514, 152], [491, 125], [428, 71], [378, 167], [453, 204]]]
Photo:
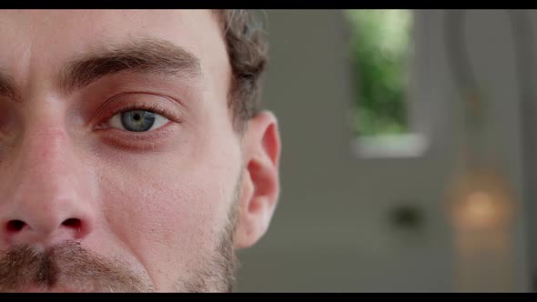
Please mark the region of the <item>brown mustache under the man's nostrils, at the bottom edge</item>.
[[0, 254], [0, 292], [28, 288], [81, 292], [153, 291], [151, 283], [127, 265], [97, 256], [72, 241], [43, 251], [26, 245], [16, 246]]

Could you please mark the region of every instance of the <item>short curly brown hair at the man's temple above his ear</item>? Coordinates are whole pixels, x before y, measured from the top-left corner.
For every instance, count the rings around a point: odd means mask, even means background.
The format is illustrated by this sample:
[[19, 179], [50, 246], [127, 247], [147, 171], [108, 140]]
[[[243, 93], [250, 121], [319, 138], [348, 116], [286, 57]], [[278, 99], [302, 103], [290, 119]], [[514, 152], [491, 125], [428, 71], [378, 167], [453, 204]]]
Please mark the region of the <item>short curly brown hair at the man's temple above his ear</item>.
[[231, 81], [228, 106], [233, 126], [243, 132], [259, 111], [261, 76], [268, 62], [268, 42], [262, 25], [248, 10], [217, 10], [228, 49]]

